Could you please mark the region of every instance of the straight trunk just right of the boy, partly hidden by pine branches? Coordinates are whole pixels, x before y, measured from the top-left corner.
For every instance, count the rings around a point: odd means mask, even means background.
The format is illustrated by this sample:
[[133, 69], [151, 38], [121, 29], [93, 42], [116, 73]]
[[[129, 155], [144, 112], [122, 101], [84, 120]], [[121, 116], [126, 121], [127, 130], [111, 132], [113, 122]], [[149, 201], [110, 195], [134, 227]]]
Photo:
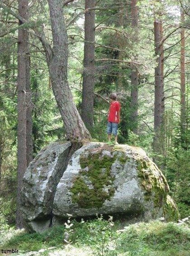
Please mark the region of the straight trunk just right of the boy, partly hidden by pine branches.
[[[134, 31], [134, 43], [138, 41], [138, 8], [137, 0], [131, 0], [131, 26]], [[133, 132], [138, 134], [138, 70], [132, 64], [131, 72], [131, 120], [133, 120]]]

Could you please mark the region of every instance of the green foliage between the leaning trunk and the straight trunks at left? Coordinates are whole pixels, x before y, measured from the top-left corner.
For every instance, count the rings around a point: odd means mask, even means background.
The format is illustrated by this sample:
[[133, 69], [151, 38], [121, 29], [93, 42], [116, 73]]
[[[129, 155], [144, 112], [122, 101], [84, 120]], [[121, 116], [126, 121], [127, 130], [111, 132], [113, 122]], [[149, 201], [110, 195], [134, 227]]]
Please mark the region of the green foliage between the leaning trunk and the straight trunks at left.
[[48, 88], [43, 72], [32, 70], [31, 90], [33, 102], [33, 152], [34, 156], [48, 142], [56, 140], [62, 121], [56, 118], [58, 110], [52, 90]]

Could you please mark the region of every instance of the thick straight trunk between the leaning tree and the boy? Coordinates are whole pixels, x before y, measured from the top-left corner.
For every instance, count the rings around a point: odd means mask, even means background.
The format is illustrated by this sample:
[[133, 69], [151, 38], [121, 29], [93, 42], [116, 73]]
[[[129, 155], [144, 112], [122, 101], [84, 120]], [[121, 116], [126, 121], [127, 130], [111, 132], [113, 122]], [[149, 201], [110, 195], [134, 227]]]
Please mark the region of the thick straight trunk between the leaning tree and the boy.
[[81, 117], [88, 129], [93, 127], [95, 84], [95, 0], [85, 0], [85, 44]]

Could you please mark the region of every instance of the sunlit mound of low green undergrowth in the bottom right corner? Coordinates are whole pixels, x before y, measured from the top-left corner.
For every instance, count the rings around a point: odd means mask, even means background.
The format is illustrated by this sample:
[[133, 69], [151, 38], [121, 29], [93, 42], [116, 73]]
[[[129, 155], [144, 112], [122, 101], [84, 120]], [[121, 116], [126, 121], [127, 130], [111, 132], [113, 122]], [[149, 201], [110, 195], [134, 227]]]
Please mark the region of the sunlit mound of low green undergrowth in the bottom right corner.
[[188, 255], [190, 230], [175, 223], [137, 224], [129, 226], [118, 239], [116, 251], [130, 256]]

